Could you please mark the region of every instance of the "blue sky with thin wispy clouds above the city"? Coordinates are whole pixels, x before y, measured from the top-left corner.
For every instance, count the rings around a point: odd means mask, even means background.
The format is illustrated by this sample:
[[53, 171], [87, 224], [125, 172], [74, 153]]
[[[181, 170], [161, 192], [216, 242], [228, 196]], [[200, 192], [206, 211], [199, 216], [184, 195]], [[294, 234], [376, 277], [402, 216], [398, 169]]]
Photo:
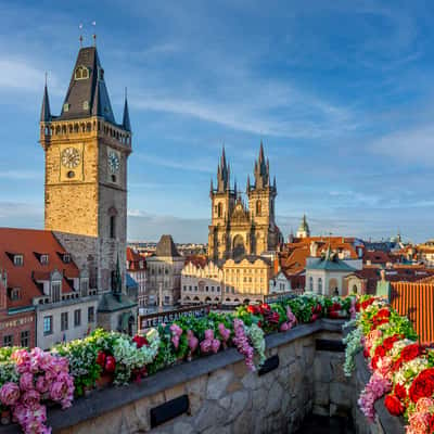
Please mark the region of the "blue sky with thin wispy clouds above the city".
[[0, 0], [0, 226], [43, 227], [44, 74], [59, 114], [95, 31], [119, 123], [128, 88], [129, 240], [206, 242], [222, 144], [244, 188], [260, 140], [285, 237], [306, 213], [312, 234], [434, 238], [433, 20], [417, 0]]

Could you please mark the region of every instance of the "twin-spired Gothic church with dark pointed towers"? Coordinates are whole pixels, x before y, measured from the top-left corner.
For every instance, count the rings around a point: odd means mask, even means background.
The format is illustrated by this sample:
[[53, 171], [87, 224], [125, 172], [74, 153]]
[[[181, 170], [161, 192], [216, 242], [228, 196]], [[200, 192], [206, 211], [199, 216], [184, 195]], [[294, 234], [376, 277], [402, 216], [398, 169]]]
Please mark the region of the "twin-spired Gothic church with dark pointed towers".
[[255, 162], [254, 182], [247, 178], [248, 203], [230, 181], [230, 166], [225, 149], [217, 168], [217, 188], [210, 183], [212, 224], [208, 232], [208, 257], [213, 260], [241, 259], [244, 255], [260, 255], [276, 251], [282, 235], [276, 225], [276, 178], [270, 182], [269, 162], [260, 143]]

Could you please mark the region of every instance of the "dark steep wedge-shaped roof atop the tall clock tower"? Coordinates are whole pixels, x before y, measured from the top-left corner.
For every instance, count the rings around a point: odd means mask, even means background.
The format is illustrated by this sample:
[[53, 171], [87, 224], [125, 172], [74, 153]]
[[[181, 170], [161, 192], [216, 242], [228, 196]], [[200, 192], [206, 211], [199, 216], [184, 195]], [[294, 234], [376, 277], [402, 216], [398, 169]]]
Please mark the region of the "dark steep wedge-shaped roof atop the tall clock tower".
[[81, 48], [77, 55], [60, 120], [100, 116], [116, 124], [95, 47]]

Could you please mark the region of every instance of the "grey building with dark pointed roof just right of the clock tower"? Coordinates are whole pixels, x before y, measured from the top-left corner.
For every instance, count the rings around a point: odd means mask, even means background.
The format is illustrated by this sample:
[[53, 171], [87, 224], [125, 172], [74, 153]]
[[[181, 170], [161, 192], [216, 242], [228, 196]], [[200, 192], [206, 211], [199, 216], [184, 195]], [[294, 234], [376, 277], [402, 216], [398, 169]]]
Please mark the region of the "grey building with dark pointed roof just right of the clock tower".
[[146, 294], [151, 306], [169, 306], [179, 302], [184, 258], [170, 235], [162, 235], [155, 255], [146, 258]]

